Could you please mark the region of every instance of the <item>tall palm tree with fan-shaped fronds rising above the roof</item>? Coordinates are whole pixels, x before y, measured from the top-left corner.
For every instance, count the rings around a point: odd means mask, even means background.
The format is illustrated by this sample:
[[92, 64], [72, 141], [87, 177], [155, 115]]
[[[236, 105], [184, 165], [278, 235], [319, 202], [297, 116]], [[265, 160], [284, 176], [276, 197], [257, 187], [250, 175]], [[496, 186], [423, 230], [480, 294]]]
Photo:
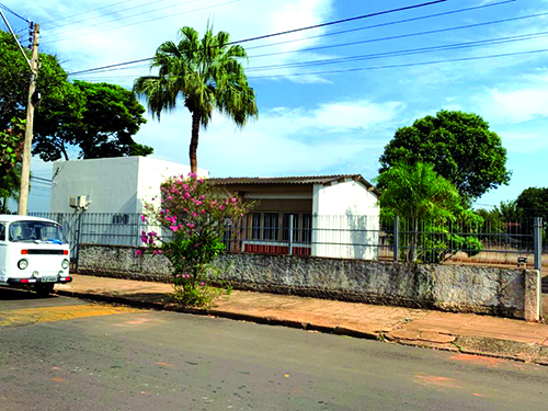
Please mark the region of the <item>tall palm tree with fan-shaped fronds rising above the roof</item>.
[[255, 93], [240, 62], [248, 55], [243, 47], [230, 45], [226, 32], [213, 34], [208, 26], [202, 41], [192, 27], [179, 32], [180, 42], [163, 43], [156, 50], [150, 68], [158, 76], [140, 77], [134, 91], [145, 98], [152, 117], [176, 109], [179, 96], [192, 114], [192, 138], [189, 149], [191, 170], [197, 170], [196, 150], [199, 127], [207, 128], [214, 110], [243, 127], [256, 117]]

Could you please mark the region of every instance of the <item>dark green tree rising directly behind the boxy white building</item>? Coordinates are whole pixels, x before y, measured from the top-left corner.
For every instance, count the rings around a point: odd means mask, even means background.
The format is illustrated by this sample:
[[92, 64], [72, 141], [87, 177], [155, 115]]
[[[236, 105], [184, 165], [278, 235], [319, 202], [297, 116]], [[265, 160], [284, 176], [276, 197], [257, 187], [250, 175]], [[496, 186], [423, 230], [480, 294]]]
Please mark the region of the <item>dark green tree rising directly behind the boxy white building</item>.
[[109, 83], [75, 81], [75, 95], [83, 109], [48, 111], [37, 118], [33, 152], [44, 161], [69, 159], [69, 148], [79, 150], [83, 159], [148, 156], [152, 148], [135, 142], [133, 136], [146, 123], [145, 107], [135, 93]]

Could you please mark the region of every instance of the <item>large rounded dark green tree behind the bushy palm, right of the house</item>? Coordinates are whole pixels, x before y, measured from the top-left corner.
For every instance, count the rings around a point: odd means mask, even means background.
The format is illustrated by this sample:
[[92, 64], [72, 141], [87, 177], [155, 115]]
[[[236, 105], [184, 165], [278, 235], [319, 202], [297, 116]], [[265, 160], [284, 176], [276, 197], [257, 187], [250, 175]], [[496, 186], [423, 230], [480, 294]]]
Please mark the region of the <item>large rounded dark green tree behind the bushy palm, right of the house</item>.
[[380, 173], [399, 162], [429, 162], [457, 187], [466, 203], [507, 184], [506, 150], [479, 115], [441, 111], [401, 127], [385, 147]]

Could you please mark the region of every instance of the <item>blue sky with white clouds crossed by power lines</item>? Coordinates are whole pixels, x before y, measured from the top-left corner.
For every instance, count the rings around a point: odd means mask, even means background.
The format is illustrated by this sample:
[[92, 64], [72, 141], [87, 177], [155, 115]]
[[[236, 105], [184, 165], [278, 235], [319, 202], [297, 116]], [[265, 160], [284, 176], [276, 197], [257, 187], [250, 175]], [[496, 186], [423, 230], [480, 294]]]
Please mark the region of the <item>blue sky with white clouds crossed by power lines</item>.
[[[41, 23], [41, 52], [57, 55], [73, 72], [151, 57], [163, 42], [176, 41], [185, 25], [203, 34], [209, 23], [215, 32], [226, 31], [240, 41], [425, 1], [3, 0], [2, 4]], [[27, 45], [27, 24], [11, 13], [7, 16]], [[237, 129], [214, 115], [199, 135], [198, 167], [217, 178], [361, 173], [373, 180], [378, 158], [399, 127], [439, 110], [459, 110], [489, 122], [501, 136], [512, 170], [510, 184], [484, 194], [477, 207], [515, 199], [529, 186], [548, 186], [548, 172], [541, 165], [548, 158], [547, 22], [547, 0], [447, 0], [242, 43], [259, 118]], [[149, 72], [145, 62], [70, 79], [130, 89], [137, 77]], [[155, 158], [187, 164], [186, 109], [181, 104], [160, 122], [148, 113], [147, 118], [135, 140], [153, 147]], [[33, 159], [32, 171], [48, 180], [52, 164]], [[31, 212], [48, 210], [48, 191], [47, 182], [34, 184]]]

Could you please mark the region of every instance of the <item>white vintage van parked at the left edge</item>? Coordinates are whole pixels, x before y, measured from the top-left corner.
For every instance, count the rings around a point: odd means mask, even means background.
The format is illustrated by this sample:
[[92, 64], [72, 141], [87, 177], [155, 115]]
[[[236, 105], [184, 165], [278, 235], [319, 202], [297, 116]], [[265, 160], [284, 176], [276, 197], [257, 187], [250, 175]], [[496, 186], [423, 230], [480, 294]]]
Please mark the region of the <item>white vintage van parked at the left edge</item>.
[[69, 266], [69, 244], [59, 224], [0, 215], [0, 286], [33, 286], [48, 295], [55, 284], [72, 281]]

